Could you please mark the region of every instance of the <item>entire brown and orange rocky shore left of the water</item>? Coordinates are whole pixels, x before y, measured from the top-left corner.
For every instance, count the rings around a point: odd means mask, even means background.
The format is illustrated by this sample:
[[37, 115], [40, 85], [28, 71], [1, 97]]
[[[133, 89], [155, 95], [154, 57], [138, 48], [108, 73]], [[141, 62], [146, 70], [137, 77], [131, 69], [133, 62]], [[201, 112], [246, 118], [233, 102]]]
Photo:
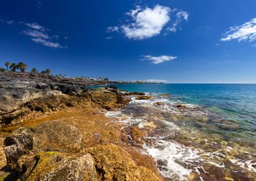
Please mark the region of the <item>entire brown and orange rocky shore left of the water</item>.
[[102, 83], [1, 74], [0, 180], [163, 180], [146, 130], [104, 116], [150, 98]]

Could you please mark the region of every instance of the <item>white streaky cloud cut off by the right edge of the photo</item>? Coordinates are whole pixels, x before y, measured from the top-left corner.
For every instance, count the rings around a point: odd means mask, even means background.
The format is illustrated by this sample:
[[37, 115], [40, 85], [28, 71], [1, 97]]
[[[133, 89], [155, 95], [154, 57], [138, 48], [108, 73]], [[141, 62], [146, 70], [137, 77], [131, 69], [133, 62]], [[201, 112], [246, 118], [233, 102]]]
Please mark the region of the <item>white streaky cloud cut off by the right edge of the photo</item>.
[[225, 36], [220, 40], [227, 42], [230, 40], [238, 40], [238, 42], [248, 40], [253, 42], [256, 40], [256, 17], [240, 26], [230, 27]]

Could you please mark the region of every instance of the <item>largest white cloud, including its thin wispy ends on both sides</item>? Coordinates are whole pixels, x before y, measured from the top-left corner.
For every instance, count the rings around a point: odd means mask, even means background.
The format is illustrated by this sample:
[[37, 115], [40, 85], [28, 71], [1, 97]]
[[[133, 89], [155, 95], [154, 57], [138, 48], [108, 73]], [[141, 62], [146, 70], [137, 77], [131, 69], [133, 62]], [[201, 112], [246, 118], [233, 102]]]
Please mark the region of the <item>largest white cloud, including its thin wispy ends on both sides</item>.
[[[170, 7], [156, 5], [153, 8], [137, 6], [126, 13], [128, 19], [120, 26], [108, 27], [106, 32], [121, 32], [133, 40], [143, 40], [161, 34], [166, 26], [168, 32], [176, 32], [179, 23], [188, 20], [189, 13], [171, 10]], [[173, 20], [172, 20], [173, 15]]]

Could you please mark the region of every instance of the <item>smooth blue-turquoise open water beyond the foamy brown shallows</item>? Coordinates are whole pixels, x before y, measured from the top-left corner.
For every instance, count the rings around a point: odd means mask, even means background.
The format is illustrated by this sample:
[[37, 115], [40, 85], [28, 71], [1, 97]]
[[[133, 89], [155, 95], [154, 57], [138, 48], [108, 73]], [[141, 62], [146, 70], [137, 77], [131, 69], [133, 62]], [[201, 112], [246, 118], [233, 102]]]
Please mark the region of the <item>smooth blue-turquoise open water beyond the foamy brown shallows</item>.
[[[170, 94], [171, 99], [207, 107], [223, 119], [256, 133], [256, 84], [117, 84], [125, 91]], [[255, 139], [255, 137], [253, 137]]]

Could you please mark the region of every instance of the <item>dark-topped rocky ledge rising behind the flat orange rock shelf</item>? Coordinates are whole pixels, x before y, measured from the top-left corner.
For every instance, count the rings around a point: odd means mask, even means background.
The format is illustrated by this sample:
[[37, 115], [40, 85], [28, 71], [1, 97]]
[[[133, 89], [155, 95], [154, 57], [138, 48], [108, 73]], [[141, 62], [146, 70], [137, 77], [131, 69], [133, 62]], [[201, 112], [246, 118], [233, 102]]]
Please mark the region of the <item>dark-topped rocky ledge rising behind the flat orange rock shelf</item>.
[[[33, 111], [48, 113], [89, 102], [108, 111], [122, 107], [131, 99], [116, 86], [92, 89], [60, 82], [0, 82], [0, 126], [20, 123]], [[90, 105], [90, 103], [89, 103]]]

